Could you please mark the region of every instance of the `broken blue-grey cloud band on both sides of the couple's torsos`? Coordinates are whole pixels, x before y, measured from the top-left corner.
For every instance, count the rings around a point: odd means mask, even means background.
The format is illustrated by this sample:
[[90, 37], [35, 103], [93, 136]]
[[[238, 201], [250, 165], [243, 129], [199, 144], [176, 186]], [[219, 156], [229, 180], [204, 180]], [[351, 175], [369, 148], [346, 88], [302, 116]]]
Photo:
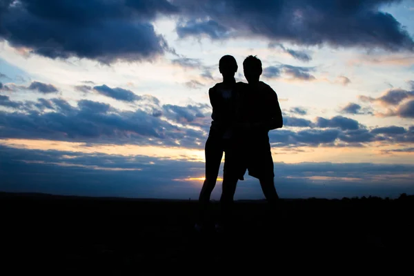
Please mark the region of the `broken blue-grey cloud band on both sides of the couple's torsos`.
[[[72, 106], [64, 99], [11, 101], [2, 96], [0, 139], [49, 139], [92, 144], [135, 144], [202, 149], [210, 127], [211, 108], [205, 103], [160, 105], [149, 95], [140, 96], [135, 111], [118, 110], [107, 103], [83, 99]], [[317, 117], [315, 121], [284, 116], [286, 128], [272, 131], [275, 148], [302, 146], [362, 146], [373, 141], [413, 143], [414, 126], [369, 130], [346, 117]], [[302, 128], [293, 131], [287, 127]]]

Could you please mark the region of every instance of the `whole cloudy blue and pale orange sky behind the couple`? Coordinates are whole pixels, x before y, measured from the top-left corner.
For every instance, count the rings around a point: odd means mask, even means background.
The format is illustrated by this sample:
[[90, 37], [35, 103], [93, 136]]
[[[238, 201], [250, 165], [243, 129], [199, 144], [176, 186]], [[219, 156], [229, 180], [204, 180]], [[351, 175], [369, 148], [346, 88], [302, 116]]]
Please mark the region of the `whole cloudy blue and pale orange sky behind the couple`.
[[412, 0], [0, 0], [0, 190], [197, 198], [227, 54], [279, 97], [281, 197], [414, 193]]

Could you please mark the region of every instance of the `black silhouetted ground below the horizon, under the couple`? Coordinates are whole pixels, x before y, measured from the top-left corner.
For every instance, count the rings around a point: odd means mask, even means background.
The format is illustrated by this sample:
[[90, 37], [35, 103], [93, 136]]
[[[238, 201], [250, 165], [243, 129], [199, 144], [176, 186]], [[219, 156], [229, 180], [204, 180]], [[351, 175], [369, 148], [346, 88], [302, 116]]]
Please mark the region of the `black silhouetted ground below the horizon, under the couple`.
[[293, 272], [308, 271], [307, 263], [403, 262], [414, 249], [412, 197], [285, 199], [270, 221], [266, 203], [237, 202], [235, 227], [221, 235], [193, 231], [196, 201], [0, 193], [0, 202], [0, 253], [12, 275], [214, 275], [224, 266]]

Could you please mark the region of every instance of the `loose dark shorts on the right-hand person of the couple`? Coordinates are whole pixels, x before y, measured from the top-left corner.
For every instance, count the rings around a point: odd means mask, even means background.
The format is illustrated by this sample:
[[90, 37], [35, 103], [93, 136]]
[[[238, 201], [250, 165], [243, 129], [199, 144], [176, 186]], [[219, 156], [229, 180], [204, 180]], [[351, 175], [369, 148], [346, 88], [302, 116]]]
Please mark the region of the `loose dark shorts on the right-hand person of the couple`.
[[268, 141], [236, 143], [226, 150], [224, 177], [243, 180], [248, 175], [257, 179], [273, 179], [273, 158]]

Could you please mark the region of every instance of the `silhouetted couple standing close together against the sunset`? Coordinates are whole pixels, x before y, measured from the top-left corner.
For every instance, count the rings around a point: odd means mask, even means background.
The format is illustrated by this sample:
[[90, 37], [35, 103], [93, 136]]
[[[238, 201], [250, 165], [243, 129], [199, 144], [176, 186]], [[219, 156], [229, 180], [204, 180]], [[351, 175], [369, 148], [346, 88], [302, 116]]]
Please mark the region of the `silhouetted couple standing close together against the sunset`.
[[208, 90], [213, 107], [210, 132], [205, 146], [206, 179], [199, 195], [196, 230], [208, 228], [210, 196], [215, 188], [221, 158], [225, 153], [224, 177], [220, 197], [220, 215], [216, 230], [228, 227], [237, 181], [244, 175], [259, 179], [264, 196], [273, 210], [279, 197], [274, 184], [273, 159], [268, 132], [282, 128], [282, 111], [276, 92], [260, 81], [262, 61], [244, 59], [244, 77], [248, 83], [236, 82], [237, 61], [225, 55], [219, 61], [223, 81]]

